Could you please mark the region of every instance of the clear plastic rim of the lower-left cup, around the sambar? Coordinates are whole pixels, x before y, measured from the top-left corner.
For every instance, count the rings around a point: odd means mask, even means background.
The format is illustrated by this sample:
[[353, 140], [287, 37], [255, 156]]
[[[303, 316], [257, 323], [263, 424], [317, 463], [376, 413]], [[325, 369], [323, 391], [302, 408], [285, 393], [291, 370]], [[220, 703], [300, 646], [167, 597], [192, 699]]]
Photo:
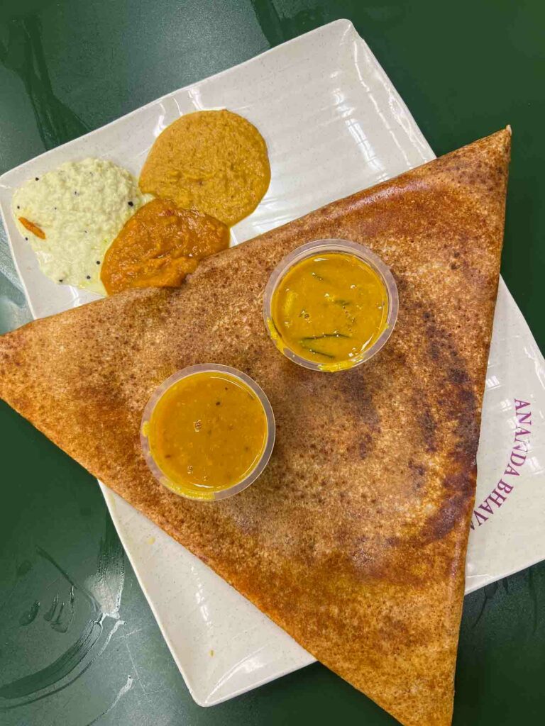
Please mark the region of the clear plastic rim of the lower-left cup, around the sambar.
[[[241, 481], [236, 482], [235, 484], [233, 484], [233, 486], [229, 486], [227, 489], [220, 489], [217, 492], [206, 489], [203, 489], [202, 492], [183, 492], [180, 491], [179, 485], [172, 482], [169, 477], [166, 476], [166, 474], [163, 472], [163, 470], [161, 470], [161, 468], [159, 468], [156, 460], [154, 459], [150, 449], [150, 441], [148, 439], [148, 425], [153, 414], [153, 409], [155, 409], [156, 404], [163, 396], [163, 393], [168, 391], [168, 389], [171, 388], [171, 386], [174, 386], [175, 383], [178, 383], [179, 380], [182, 380], [182, 378], [187, 378], [191, 375], [198, 375], [199, 373], [206, 372], [221, 372], [223, 374], [229, 375], [232, 378], [241, 381], [241, 383], [246, 384], [246, 386], [248, 386], [251, 391], [254, 391], [260, 403], [262, 404], [263, 411], [265, 412], [265, 417], [267, 420], [267, 439], [265, 441], [265, 446], [263, 448], [262, 454], [254, 465], [254, 468], [249, 471], [249, 473], [247, 473], [246, 476], [241, 479]], [[218, 501], [219, 499], [233, 497], [233, 494], [238, 494], [238, 492], [242, 492], [243, 489], [246, 489], [247, 486], [253, 484], [254, 481], [256, 481], [257, 477], [262, 474], [263, 470], [267, 466], [267, 463], [269, 462], [270, 455], [273, 453], [273, 448], [275, 445], [275, 431], [275, 416], [273, 413], [273, 407], [270, 405], [270, 401], [269, 399], [267, 399], [265, 392], [262, 390], [262, 388], [260, 388], [260, 386], [257, 385], [254, 380], [246, 375], [246, 373], [243, 373], [240, 370], [236, 370], [236, 368], [231, 368], [230, 366], [226, 365], [218, 365], [215, 363], [206, 363], [193, 365], [184, 368], [183, 370], [179, 370], [166, 380], [163, 380], [161, 386], [158, 386], [158, 388], [156, 388], [150, 400], [148, 401], [148, 404], [146, 404], [144, 413], [142, 415], [142, 423], [140, 424], [140, 444], [142, 445], [142, 452], [144, 452], [146, 463], [148, 464], [151, 473], [153, 473], [153, 476], [155, 476], [160, 484], [166, 486], [166, 488], [170, 489], [171, 492], [174, 492], [174, 494], [179, 494], [180, 497], [186, 497], [187, 499], [200, 499], [205, 501]]]

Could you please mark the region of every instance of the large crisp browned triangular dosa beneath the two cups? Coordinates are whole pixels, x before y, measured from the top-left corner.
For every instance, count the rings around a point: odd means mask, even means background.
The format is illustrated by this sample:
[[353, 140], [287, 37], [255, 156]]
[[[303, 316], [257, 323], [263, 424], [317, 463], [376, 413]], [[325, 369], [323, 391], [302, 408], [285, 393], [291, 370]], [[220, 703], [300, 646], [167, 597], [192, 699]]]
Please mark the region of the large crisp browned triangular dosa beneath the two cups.
[[[1, 396], [407, 726], [451, 722], [475, 454], [500, 264], [509, 131], [203, 262], [0, 339]], [[389, 264], [400, 314], [371, 362], [288, 362], [262, 321], [273, 267], [345, 237]], [[163, 489], [139, 423], [166, 376], [229, 364], [265, 389], [270, 465], [242, 494]]]

